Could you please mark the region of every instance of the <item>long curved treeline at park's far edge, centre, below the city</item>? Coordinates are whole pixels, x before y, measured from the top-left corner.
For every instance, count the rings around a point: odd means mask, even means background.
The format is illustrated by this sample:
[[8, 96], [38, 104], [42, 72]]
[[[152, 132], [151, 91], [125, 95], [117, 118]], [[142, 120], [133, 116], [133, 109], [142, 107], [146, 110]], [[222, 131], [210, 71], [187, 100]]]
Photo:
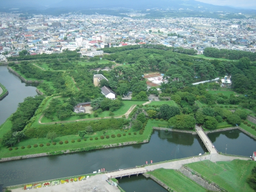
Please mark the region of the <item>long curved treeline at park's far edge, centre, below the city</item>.
[[123, 46], [123, 47], [118, 47], [118, 48], [103, 48], [100, 49], [104, 51], [104, 53], [117, 53], [117, 52], [122, 52], [122, 51], [128, 51], [128, 50], [135, 50], [135, 49], [142, 49], [142, 48], [147, 48], [147, 49], [159, 49], [159, 50], [172, 50], [177, 53], [184, 53], [188, 55], [196, 55], [197, 51], [194, 49], [183, 49], [181, 47], [179, 48], [174, 48], [174, 47], [166, 47], [163, 45], [152, 45], [152, 44], [145, 44], [145, 45], [135, 45], [135, 46]]

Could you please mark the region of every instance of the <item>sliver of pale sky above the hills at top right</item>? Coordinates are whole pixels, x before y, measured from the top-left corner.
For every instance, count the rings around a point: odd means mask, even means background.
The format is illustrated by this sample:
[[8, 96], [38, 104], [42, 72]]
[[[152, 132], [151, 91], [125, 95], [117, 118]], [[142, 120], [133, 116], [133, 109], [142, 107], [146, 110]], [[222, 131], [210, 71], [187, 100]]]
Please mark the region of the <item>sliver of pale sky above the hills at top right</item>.
[[256, 1], [255, 0], [196, 0], [198, 2], [203, 2], [207, 4], [213, 5], [221, 5], [221, 6], [231, 6], [231, 7], [241, 7], [241, 8], [250, 8], [256, 9]]

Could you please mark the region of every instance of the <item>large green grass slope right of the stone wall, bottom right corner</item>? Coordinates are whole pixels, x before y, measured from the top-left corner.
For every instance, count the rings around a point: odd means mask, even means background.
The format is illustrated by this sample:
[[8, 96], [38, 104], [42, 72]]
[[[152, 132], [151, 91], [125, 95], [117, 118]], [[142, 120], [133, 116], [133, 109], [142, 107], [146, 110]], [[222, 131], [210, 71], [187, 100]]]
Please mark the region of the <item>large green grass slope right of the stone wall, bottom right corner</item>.
[[205, 160], [186, 165], [228, 191], [254, 191], [246, 183], [246, 178], [251, 174], [253, 166], [256, 166], [254, 161], [237, 159], [213, 163]]

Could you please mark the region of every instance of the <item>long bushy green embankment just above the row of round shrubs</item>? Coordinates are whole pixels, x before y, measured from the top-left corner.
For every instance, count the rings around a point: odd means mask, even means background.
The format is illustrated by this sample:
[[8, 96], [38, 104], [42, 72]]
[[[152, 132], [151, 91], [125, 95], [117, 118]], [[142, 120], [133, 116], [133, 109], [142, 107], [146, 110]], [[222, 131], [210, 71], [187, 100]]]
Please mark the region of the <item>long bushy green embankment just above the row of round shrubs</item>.
[[128, 121], [124, 118], [115, 119], [99, 119], [97, 121], [79, 121], [65, 124], [49, 124], [31, 128], [25, 132], [28, 138], [44, 138], [47, 133], [55, 132], [58, 136], [77, 135], [78, 131], [84, 130], [84, 127], [92, 126], [93, 132], [102, 130], [118, 130], [122, 129], [123, 125]]

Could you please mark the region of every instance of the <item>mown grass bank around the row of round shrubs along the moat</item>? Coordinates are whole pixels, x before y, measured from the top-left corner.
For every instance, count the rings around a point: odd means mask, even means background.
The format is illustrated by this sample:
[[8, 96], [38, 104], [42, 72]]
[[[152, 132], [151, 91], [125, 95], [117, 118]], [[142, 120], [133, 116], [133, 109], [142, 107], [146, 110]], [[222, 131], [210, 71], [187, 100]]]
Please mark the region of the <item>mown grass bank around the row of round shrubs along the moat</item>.
[[[150, 120], [148, 121], [150, 122]], [[80, 147], [93, 147], [93, 146], [100, 146], [100, 145], [109, 145], [109, 144], [115, 144], [115, 143], [123, 143], [123, 142], [129, 142], [129, 141], [142, 141], [146, 140], [148, 138], [148, 135], [151, 134], [152, 131], [152, 124], [148, 123], [145, 127], [145, 130], [142, 135], [139, 134], [139, 131], [130, 129], [127, 132], [121, 131], [121, 130], [106, 130], [106, 135], [117, 135], [118, 133], [121, 134], [121, 137], [110, 137], [109, 139], [100, 139], [100, 136], [103, 135], [102, 132], [96, 132], [91, 135], [86, 135], [84, 138], [87, 138], [87, 141], [84, 141], [81, 139], [81, 142], [77, 142], [77, 139], [80, 139], [78, 135], [67, 135], [67, 136], [61, 136], [54, 139], [54, 141], [57, 143], [56, 145], [52, 145], [51, 140], [47, 138], [32, 138], [32, 139], [23, 139], [19, 143], [15, 144], [12, 148], [12, 151], [9, 151], [8, 148], [6, 148], [3, 145], [0, 145], [0, 158], [4, 157], [13, 157], [13, 156], [21, 156], [21, 155], [28, 155], [28, 154], [38, 154], [38, 153], [47, 153], [47, 152], [54, 152], [54, 151], [64, 151], [64, 150], [71, 150], [76, 149]], [[137, 135], [134, 135], [133, 133], [136, 132]], [[126, 135], [123, 136], [123, 133]], [[128, 133], [131, 133], [129, 135]], [[93, 140], [90, 140], [90, 138], [93, 138]], [[98, 140], [95, 140], [95, 137], [98, 137]], [[75, 142], [72, 143], [71, 140], [74, 139]], [[68, 140], [69, 143], [64, 143], [64, 141]], [[59, 144], [59, 141], [63, 141], [63, 144]], [[46, 146], [46, 143], [51, 143], [50, 146]], [[42, 143], [44, 146], [40, 147], [39, 144]], [[34, 144], [37, 144], [38, 147], [33, 147]], [[31, 145], [31, 148], [27, 148], [27, 145]], [[14, 147], [18, 147], [18, 150], [14, 150]], [[25, 146], [24, 149], [21, 149], [21, 146]]]

